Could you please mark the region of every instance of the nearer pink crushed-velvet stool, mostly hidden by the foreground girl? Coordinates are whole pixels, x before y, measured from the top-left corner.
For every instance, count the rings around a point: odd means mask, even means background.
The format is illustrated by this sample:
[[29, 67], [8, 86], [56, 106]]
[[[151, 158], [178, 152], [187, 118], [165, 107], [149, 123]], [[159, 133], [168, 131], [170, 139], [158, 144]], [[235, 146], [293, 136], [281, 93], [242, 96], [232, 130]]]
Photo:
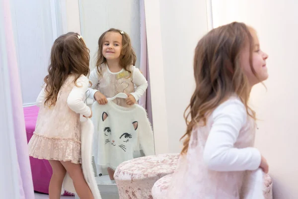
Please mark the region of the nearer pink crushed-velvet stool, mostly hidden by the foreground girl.
[[[152, 188], [152, 198], [153, 199], [166, 199], [166, 192], [171, 183], [172, 174], [166, 175], [160, 178], [158, 181], [155, 182]], [[266, 175], [264, 178], [264, 198], [265, 199], [272, 199], [272, 179], [270, 176]]]

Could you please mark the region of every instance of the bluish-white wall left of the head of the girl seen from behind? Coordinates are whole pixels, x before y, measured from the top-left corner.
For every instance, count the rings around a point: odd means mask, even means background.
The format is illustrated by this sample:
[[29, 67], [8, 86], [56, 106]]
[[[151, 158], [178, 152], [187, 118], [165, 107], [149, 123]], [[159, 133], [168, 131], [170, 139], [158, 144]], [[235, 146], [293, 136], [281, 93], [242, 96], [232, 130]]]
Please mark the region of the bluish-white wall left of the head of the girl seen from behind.
[[23, 104], [35, 103], [53, 44], [50, 0], [11, 0]]

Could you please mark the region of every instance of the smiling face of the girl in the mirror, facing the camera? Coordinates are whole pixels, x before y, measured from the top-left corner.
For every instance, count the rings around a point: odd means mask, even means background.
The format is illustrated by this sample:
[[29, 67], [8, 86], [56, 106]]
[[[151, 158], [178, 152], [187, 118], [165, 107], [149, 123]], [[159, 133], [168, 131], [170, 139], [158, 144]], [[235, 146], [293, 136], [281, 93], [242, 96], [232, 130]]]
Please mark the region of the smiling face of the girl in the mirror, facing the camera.
[[104, 37], [102, 54], [107, 60], [120, 59], [122, 35], [118, 32], [108, 32]]

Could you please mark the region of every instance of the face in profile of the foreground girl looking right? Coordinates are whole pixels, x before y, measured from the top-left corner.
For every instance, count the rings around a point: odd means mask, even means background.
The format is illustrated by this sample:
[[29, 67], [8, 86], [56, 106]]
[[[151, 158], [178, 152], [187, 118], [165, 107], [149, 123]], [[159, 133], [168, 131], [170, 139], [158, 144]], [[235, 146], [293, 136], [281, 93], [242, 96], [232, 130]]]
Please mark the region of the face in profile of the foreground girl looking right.
[[243, 67], [244, 74], [247, 76], [251, 86], [254, 86], [268, 78], [268, 71], [266, 66], [266, 59], [268, 55], [260, 49], [260, 43], [258, 36], [252, 28], [250, 33], [253, 37], [254, 47], [252, 52], [252, 67], [256, 72], [256, 76], [253, 74], [249, 64], [249, 45], [246, 45], [240, 55], [240, 64]]

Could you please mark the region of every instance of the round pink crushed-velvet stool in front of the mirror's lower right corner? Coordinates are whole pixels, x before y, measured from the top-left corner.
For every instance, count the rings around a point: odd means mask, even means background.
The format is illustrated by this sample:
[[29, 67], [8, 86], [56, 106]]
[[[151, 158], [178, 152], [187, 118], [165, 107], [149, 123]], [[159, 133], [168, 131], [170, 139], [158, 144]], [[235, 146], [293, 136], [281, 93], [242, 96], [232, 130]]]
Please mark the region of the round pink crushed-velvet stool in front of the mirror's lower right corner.
[[178, 153], [162, 154], [121, 163], [114, 174], [120, 199], [151, 199], [154, 183], [175, 171], [178, 158]]

